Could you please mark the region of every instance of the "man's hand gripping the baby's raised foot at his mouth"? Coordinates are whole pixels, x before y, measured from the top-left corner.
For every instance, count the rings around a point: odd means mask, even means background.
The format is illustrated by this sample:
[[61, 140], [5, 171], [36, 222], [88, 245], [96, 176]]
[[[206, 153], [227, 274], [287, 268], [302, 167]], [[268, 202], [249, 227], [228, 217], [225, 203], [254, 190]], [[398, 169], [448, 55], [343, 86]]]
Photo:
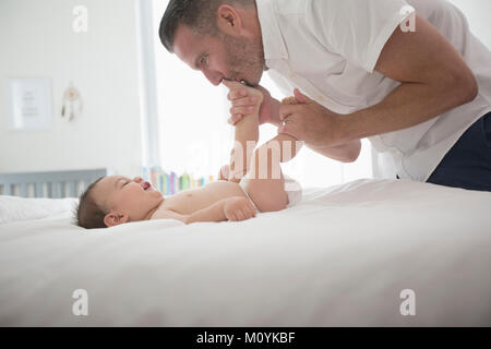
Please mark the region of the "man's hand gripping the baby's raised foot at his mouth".
[[[270, 92], [263, 86], [255, 87], [258, 91], [262, 93], [263, 101], [261, 104], [260, 109], [260, 124], [264, 123], [274, 123], [277, 124], [279, 122], [278, 119], [278, 107], [279, 101], [273, 98]], [[236, 91], [230, 91], [227, 96], [228, 100], [231, 101], [232, 108], [230, 109], [230, 119], [228, 123], [235, 125], [237, 124], [244, 115], [249, 113], [248, 108], [255, 106], [256, 100], [254, 96], [249, 94], [248, 87], [241, 86]]]

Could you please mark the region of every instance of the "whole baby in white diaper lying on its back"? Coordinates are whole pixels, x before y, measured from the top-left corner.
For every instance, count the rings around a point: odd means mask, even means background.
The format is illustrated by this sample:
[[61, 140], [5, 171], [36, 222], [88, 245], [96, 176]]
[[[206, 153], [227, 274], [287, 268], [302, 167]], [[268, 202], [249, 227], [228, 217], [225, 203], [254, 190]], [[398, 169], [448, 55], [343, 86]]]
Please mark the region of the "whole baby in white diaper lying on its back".
[[258, 212], [276, 212], [295, 205], [301, 198], [300, 185], [285, 179], [279, 164], [294, 158], [301, 143], [289, 135], [278, 134], [255, 148], [263, 95], [240, 83], [224, 84], [231, 91], [247, 88], [249, 96], [244, 104], [250, 103], [251, 97], [256, 103], [236, 125], [230, 164], [220, 170], [220, 180], [164, 197], [142, 178], [105, 177], [82, 194], [76, 210], [77, 225], [92, 229], [165, 218], [184, 224], [239, 221], [255, 217]]

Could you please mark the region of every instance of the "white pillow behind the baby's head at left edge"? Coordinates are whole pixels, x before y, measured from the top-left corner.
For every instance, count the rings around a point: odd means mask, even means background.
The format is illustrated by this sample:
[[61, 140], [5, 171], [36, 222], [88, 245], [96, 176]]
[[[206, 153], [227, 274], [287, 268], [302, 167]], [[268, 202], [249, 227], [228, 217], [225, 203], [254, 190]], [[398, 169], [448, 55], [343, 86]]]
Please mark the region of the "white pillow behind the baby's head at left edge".
[[79, 198], [24, 198], [0, 195], [0, 225], [72, 212]]

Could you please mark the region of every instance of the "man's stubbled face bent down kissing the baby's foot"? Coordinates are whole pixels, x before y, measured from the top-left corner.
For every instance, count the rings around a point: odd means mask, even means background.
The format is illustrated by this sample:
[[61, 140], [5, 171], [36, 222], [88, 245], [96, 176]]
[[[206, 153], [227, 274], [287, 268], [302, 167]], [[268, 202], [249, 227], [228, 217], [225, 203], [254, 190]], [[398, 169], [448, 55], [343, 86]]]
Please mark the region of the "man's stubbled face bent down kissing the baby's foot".
[[173, 51], [189, 67], [200, 70], [215, 86], [221, 81], [246, 80], [256, 85], [264, 71], [262, 41], [225, 34], [199, 35], [185, 25], [176, 33]]

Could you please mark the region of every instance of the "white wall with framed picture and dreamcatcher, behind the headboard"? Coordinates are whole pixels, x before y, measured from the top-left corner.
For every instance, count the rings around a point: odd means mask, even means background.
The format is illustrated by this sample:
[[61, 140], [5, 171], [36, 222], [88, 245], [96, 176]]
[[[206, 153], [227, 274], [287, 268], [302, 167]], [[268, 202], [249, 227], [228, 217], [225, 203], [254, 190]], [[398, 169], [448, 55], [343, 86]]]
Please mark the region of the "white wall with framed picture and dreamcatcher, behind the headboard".
[[[88, 33], [72, 29], [75, 5], [88, 9]], [[109, 167], [134, 176], [141, 125], [134, 0], [0, 0], [0, 172]], [[53, 128], [10, 131], [7, 77], [50, 77]], [[84, 100], [61, 117], [73, 81]]]

